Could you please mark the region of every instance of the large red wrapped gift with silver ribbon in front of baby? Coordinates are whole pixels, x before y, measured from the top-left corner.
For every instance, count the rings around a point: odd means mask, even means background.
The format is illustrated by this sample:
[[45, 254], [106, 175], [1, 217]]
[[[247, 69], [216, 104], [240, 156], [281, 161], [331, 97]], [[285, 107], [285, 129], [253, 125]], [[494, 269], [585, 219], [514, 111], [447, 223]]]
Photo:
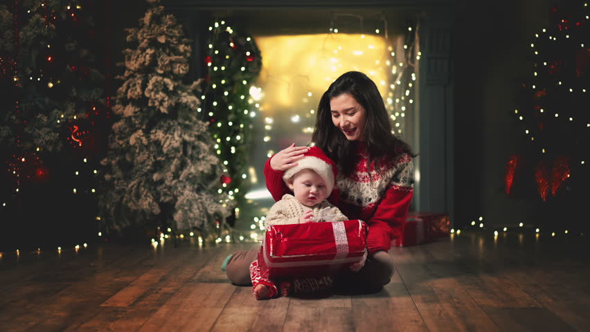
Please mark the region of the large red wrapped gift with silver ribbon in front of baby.
[[271, 225], [258, 252], [260, 272], [269, 279], [333, 275], [361, 261], [367, 233], [360, 220]]

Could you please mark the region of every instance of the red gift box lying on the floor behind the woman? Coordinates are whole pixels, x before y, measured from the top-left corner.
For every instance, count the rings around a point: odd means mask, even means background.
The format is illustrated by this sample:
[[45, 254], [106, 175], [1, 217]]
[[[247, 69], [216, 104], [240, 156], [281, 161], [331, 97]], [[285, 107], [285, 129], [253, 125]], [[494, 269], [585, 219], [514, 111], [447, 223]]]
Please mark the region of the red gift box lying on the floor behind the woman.
[[400, 229], [400, 235], [394, 239], [397, 247], [414, 246], [427, 243], [449, 234], [451, 221], [449, 215], [432, 212], [408, 212], [406, 222]]

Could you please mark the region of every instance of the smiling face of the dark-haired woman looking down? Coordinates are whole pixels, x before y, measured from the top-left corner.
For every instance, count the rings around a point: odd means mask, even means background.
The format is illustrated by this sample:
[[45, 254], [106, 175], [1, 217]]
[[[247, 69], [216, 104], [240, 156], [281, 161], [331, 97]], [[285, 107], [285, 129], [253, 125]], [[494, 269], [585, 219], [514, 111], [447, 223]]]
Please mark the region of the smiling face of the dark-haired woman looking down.
[[330, 99], [332, 122], [348, 140], [364, 140], [366, 109], [350, 93]]

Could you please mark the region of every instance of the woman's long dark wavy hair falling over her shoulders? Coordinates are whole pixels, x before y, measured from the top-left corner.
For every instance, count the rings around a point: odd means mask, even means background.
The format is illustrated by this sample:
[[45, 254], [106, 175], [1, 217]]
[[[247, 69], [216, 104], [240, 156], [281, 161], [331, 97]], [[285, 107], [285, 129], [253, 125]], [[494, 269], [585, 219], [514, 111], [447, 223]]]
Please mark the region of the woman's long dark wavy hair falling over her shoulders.
[[[377, 160], [393, 160], [400, 154], [413, 154], [411, 147], [391, 132], [391, 123], [385, 109], [383, 98], [375, 82], [358, 71], [349, 71], [337, 78], [321, 96], [316, 127], [312, 142], [334, 160], [343, 175], [354, 172], [352, 162], [357, 152], [356, 141], [348, 140], [332, 122], [330, 100], [344, 93], [350, 93], [366, 110], [364, 129], [369, 163]], [[375, 170], [379, 172], [378, 167]]]

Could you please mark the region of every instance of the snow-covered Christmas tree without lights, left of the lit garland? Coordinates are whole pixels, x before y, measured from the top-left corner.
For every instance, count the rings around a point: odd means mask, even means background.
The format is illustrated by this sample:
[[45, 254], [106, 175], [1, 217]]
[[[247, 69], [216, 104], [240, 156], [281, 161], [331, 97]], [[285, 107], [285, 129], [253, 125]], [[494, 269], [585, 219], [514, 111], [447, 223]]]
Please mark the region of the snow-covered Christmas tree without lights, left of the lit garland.
[[124, 80], [116, 93], [100, 207], [103, 226], [197, 230], [219, 237], [233, 208], [208, 125], [197, 118], [200, 81], [182, 82], [191, 48], [159, 1], [127, 29]]

